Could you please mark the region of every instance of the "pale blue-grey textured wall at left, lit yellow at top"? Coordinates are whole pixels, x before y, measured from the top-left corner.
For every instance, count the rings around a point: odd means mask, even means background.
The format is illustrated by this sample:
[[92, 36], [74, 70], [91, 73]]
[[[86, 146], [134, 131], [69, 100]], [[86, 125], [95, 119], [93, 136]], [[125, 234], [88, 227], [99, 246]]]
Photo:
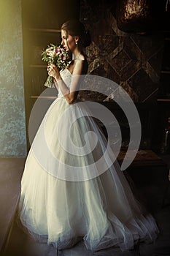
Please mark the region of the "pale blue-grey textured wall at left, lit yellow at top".
[[0, 10], [0, 157], [25, 157], [21, 1], [0, 1]]

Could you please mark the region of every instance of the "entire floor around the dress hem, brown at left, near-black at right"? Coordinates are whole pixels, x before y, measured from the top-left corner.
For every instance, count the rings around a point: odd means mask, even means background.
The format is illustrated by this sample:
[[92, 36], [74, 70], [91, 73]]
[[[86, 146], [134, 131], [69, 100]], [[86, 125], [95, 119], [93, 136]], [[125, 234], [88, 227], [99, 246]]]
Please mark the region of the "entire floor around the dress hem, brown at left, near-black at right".
[[[160, 235], [154, 244], [139, 244], [134, 250], [127, 252], [120, 252], [117, 248], [89, 252], [83, 242], [72, 249], [57, 252], [53, 246], [33, 241], [18, 227], [15, 219], [10, 219], [18, 203], [20, 178], [25, 160], [0, 159], [0, 238], [7, 233], [6, 243], [4, 238], [1, 239], [1, 256], [170, 256], [170, 155], [162, 158], [166, 165], [137, 167], [129, 169], [126, 173], [129, 182], [134, 182], [134, 192], [149, 208], [160, 229]], [[7, 224], [10, 224], [11, 230], [9, 227], [4, 228]]]

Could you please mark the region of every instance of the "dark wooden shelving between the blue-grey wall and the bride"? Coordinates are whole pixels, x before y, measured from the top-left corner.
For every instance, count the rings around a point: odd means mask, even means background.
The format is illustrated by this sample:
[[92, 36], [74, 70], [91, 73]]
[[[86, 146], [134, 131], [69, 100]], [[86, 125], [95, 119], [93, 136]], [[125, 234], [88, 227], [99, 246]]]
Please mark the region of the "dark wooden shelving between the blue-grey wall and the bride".
[[[79, 18], [80, 2], [23, 0], [23, 59], [26, 99], [26, 128], [28, 149], [28, 122], [32, 107], [40, 94], [45, 91], [47, 64], [42, 61], [42, 50], [47, 45], [61, 43], [61, 24], [71, 18]], [[56, 96], [52, 95], [51, 96]]]

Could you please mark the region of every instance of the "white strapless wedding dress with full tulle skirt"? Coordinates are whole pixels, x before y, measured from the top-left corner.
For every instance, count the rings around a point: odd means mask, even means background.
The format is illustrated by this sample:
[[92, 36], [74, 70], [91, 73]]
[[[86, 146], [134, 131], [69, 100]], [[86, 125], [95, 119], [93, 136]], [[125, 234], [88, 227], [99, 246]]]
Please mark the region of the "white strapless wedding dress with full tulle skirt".
[[[69, 87], [69, 69], [61, 76]], [[69, 105], [59, 91], [36, 133], [21, 181], [23, 226], [37, 241], [58, 249], [81, 239], [92, 251], [154, 241], [155, 220], [142, 212], [118, 163], [110, 164], [106, 138], [79, 103]]]

